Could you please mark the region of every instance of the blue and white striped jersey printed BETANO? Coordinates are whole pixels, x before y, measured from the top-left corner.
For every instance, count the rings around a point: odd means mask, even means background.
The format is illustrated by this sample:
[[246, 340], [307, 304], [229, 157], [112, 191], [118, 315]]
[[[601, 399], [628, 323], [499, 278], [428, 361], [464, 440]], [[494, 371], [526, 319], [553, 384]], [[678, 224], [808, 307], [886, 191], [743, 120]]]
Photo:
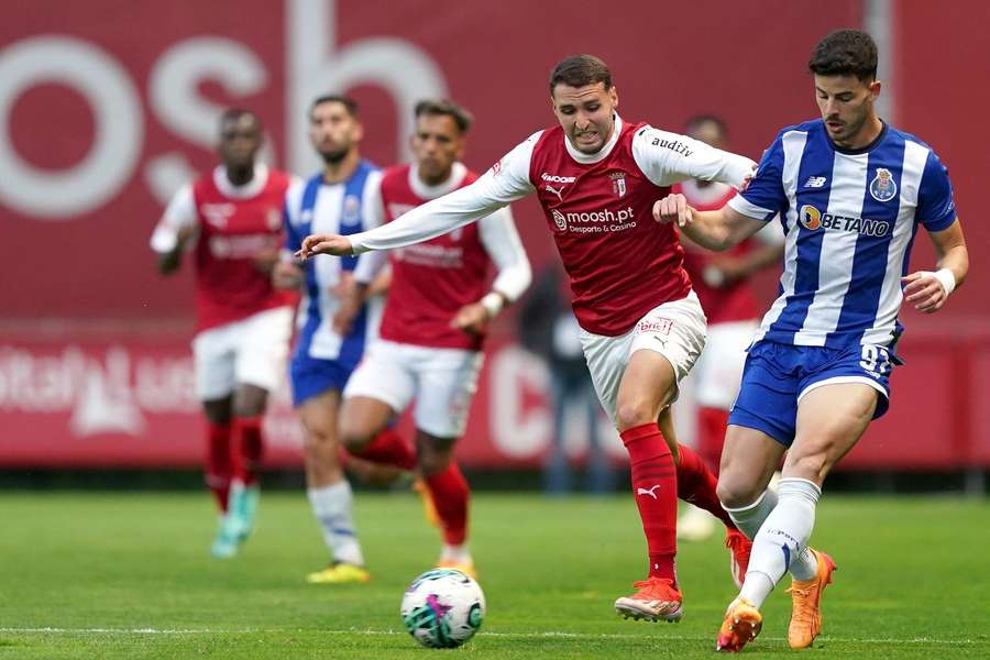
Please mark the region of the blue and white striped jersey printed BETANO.
[[782, 130], [729, 206], [780, 213], [787, 235], [779, 297], [755, 341], [806, 346], [890, 345], [919, 223], [941, 231], [956, 219], [928, 145], [884, 124], [870, 145], [843, 150], [822, 120]]

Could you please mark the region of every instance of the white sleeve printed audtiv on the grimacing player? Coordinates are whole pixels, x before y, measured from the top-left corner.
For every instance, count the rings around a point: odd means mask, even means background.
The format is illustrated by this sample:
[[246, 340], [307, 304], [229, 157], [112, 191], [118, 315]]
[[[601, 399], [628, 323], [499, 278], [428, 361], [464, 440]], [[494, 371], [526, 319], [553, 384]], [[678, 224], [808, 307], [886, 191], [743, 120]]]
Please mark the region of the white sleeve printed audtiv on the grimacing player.
[[746, 156], [652, 127], [640, 129], [632, 138], [632, 158], [647, 178], [664, 187], [694, 178], [721, 182], [738, 190], [756, 168]]

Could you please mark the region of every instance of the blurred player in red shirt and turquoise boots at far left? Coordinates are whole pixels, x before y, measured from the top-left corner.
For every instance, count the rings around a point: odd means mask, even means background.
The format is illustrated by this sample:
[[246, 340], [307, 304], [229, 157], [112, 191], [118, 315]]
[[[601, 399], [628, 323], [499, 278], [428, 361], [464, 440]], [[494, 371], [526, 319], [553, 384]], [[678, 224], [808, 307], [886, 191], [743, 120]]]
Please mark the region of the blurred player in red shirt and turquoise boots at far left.
[[195, 243], [196, 395], [207, 418], [206, 482], [222, 514], [212, 544], [231, 557], [257, 507], [262, 417], [282, 381], [292, 334], [290, 299], [272, 287], [290, 177], [256, 163], [262, 125], [246, 110], [220, 118], [221, 164], [183, 186], [151, 239], [158, 270], [175, 272]]

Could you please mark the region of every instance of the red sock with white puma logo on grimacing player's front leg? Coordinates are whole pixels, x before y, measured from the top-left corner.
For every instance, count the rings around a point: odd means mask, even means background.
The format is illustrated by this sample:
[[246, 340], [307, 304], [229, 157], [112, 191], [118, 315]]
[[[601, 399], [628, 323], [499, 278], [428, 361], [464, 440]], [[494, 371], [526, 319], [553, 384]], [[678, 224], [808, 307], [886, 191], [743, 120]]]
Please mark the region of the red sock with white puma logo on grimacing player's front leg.
[[650, 578], [678, 582], [678, 477], [670, 448], [656, 422], [620, 433], [632, 469], [632, 492], [650, 556]]

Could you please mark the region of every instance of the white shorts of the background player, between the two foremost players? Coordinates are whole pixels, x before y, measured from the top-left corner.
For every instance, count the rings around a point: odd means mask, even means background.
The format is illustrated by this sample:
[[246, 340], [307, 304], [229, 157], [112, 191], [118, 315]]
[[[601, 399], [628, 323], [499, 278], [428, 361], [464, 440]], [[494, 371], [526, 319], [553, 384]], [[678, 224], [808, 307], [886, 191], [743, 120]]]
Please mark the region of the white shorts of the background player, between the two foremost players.
[[722, 410], [733, 407], [743, 380], [746, 346], [757, 328], [756, 319], [708, 326], [708, 342], [688, 376], [698, 406]]

